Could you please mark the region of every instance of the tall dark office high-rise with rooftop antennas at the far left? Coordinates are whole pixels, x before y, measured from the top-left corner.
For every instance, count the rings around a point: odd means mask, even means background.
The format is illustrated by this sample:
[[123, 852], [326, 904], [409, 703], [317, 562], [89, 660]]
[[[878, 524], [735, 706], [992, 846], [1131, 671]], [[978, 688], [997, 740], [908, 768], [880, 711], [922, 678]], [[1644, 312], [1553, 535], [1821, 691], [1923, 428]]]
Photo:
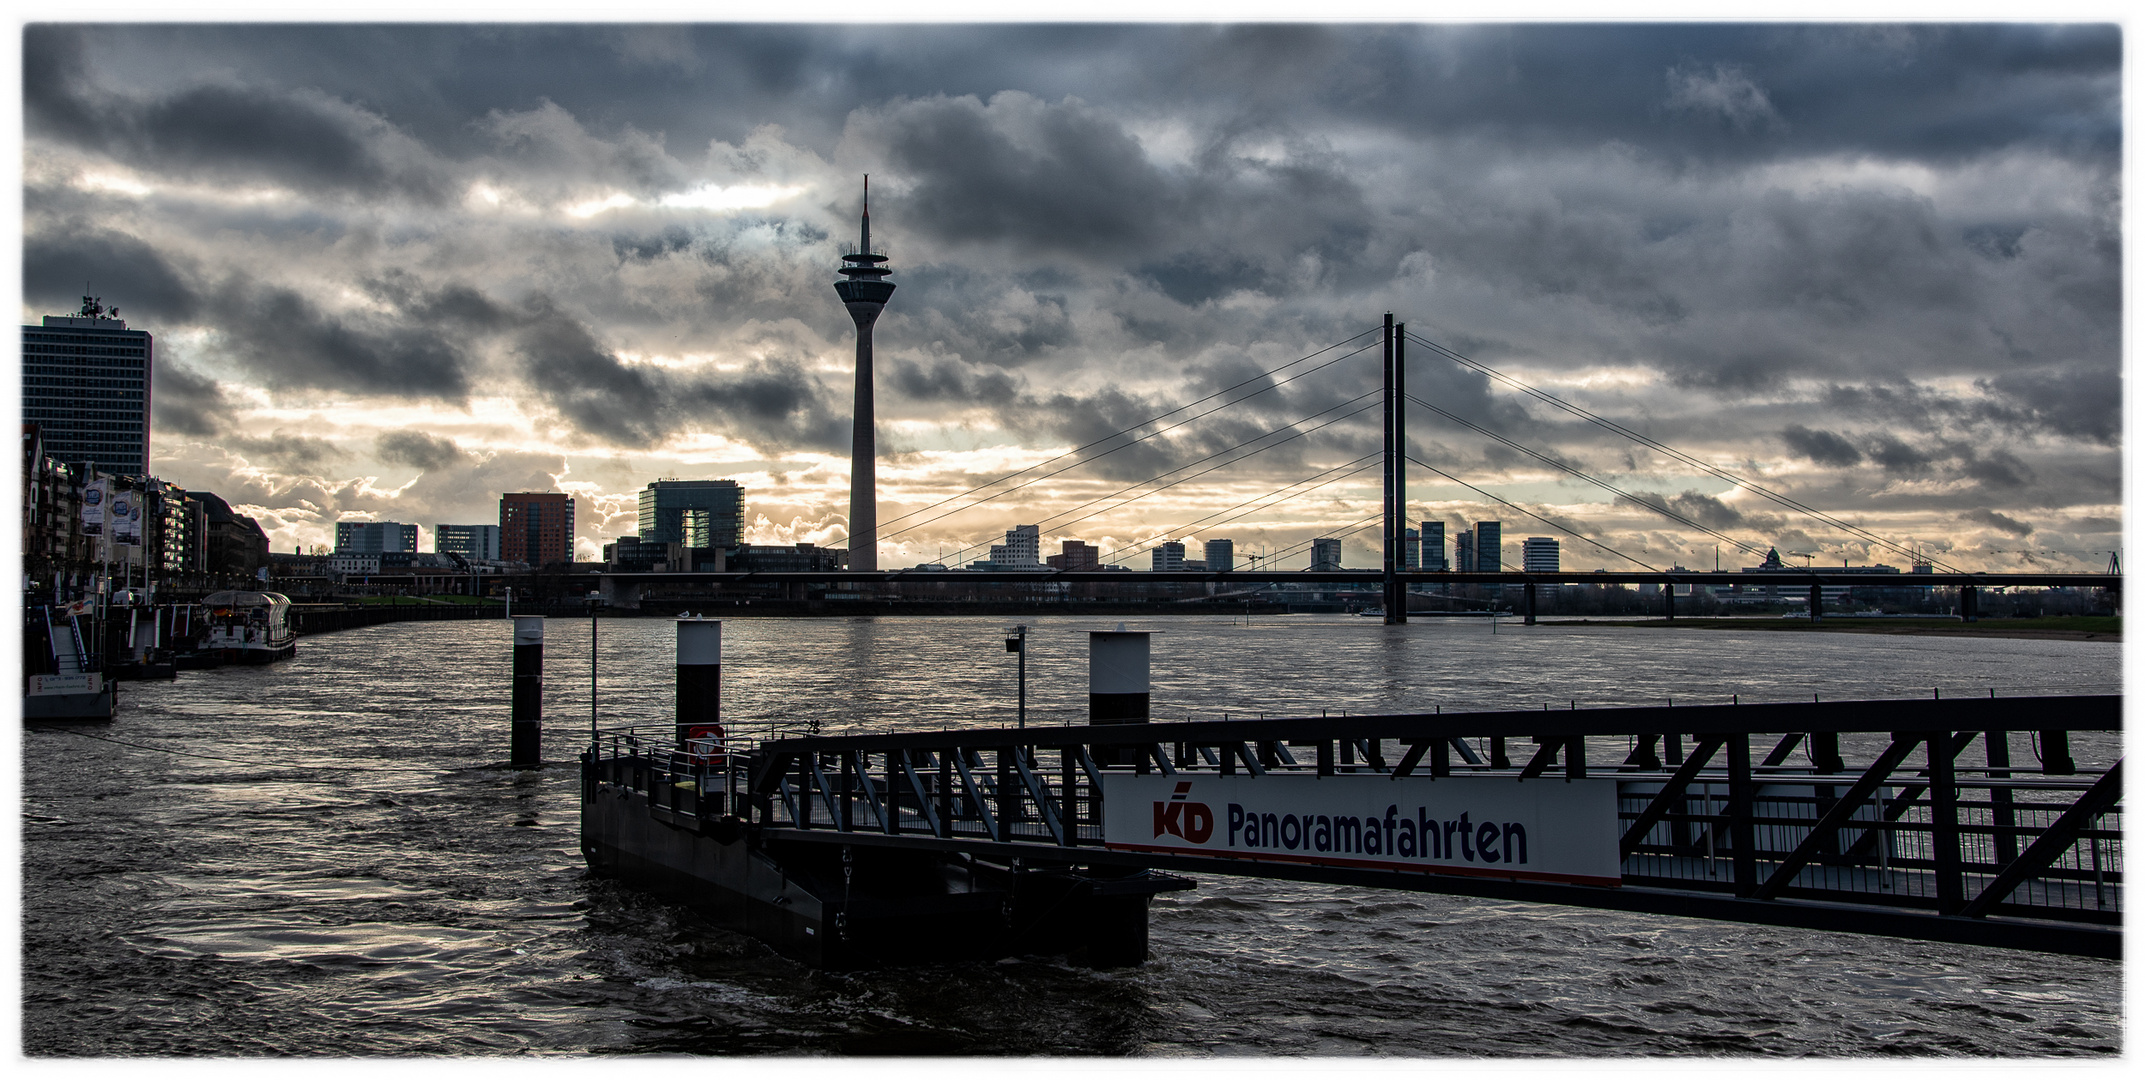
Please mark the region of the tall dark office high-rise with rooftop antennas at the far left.
[[75, 316], [21, 329], [21, 419], [45, 453], [73, 468], [148, 475], [148, 408], [157, 339], [84, 296]]

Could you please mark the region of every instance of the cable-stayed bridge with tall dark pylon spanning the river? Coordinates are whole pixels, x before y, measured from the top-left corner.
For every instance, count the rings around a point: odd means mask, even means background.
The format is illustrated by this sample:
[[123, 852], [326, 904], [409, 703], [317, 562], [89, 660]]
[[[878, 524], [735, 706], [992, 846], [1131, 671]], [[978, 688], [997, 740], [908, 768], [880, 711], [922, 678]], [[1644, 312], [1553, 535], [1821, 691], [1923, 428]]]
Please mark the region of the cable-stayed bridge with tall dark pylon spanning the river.
[[[1587, 522], [1572, 520], [1568, 515], [1547, 513], [1547, 507], [1529, 507], [1521, 500], [1506, 498], [1491, 487], [1474, 483], [1465, 477], [1452, 475], [1433, 462], [1416, 455], [1409, 444], [1409, 421], [1429, 419], [1439, 423], [1441, 432], [1463, 432], [1478, 436], [1484, 447], [1491, 447], [1512, 459], [1529, 462], [1553, 470], [1559, 477], [1585, 483], [1619, 507], [1630, 507], [1650, 515], [1658, 515], [1665, 526], [1671, 526], [1686, 537], [1699, 537], [1703, 541], [1716, 543], [1718, 548], [1729, 548], [1731, 552], [1742, 552], [1752, 560], [1761, 560], [1770, 554], [1770, 545], [1757, 539], [1746, 539], [1731, 532], [1731, 526], [1707, 524], [1695, 513], [1680, 509], [1671, 496], [1641, 490], [1630, 481], [1615, 481], [1609, 477], [1594, 475], [1553, 449], [1529, 447], [1519, 438], [1499, 432], [1493, 423], [1482, 417], [1467, 417], [1461, 410], [1446, 408], [1439, 402], [1426, 399], [1409, 391], [1409, 346], [1416, 348], [1420, 356], [1429, 356], [1433, 363], [1454, 365], [1461, 371], [1478, 376], [1484, 384], [1495, 384], [1519, 399], [1547, 408], [1553, 414], [1570, 421], [1585, 423], [1587, 427], [1609, 434], [1630, 447], [1667, 462], [1671, 468], [1684, 470], [1692, 477], [1705, 477], [1710, 481], [1727, 483], [1733, 492], [1744, 492], [1750, 502], [1761, 502], [1772, 511], [1789, 515], [1789, 520], [1802, 520], [1815, 528], [1840, 537], [1843, 543], [1858, 545], [1873, 556], [1892, 556], [1907, 560], [1924, 569], [1922, 573], [1900, 575], [1873, 575], [1864, 567], [1862, 571], [1851, 571], [1843, 567], [1840, 571], [1825, 571], [1819, 567], [1778, 567], [1757, 573], [1705, 573], [1690, 571], [1684, 567], [1660, 567], [1647, 563], [1637, 554], [1613, 548], [1602, 539], [1602, 530], [1592, 528]], [[1819, 614], [1821, 588], [1825, 586], [1928, 586], [1928, 588], [1958, 588], [1961, 593], [1961, 614], [1973, 616], [1973, 605], [1980, 588], [1999, 586], [2119, 586], [2119, 575], [2115, 573], [2046, 573], [2046, 571], [2008, 571], [2008, 573], [1967, 573], [1958, 567], [1943, 563], [1941, 558], [1928, 554], [1913, 541], [1900, 541], [1894, 537], [1879, 535], [1855, 522], [1849, 522], [1836, 513], [1819, 509], [1802, 498], [1787, 492], [1774, 490], [1746, 475], [1731, 472], [1718, 462], [1710, 462], [1701, 455], [1677, 449], [1669, 442], [1652, 438], [1637, 432], [1615, 419], [1602, 417], [1579, 404], [1566, 402], [1549, 391], [1532, 386], [1519, 378], [1512, 378], [1495, 367], [1489, 367], [1471, 356], [1465, 356], [1444, 344], [1429, 337], [1409, 333], [1405, 324], [1394, 322], [1392, 316], [1379, 326], [1366, 329], [1347, 339], [1334, 341], [1326, 348], [1298, 356], [1285, 365], [1259, 371], [1251, 378], [1242, 378], [1229, 386], [1223, 386], [1205, 397], [1188, 402], [1184, 406], [1156, 412], [1135, 425], [1122, 427], [1109, 436], [1090, 440], [1081, 447], [1072, 447], [1055, 457], [1036, 462], [1032, 466], [1006, 472], [965, 492], [940, 498], [924, 507], [912, 509], [903, 515], [890, 517], [879, 524], [882, 541], [899, 541], [901, 537], [920, 537], [931, 526], [946, 528], [944, 522], [955, 515], [989, 513], [997, 507], [1010, 505], [1015, 496], [1036, 498], [1042, 492], [1051, 492], [1051, 481], [1057, 483], [1085, 483], [1094, 487], [1094, 479], [1075, 477], [1079, 470], [1088, 475], [1113, 462], [1115, 455], [1135, 449], [1156, 449], [1163, 447], [1167, 436], [1173, 434], [1195, 434], [1201, 421], [1221, 417], [1223, 421], [1236, 421], [1244, 427], [1248, 412], [1238, 406], [1257, 406], [1272, 410], [1276, 391], [1285, 386], [1313, 386], [1326, 382], [1326, 397], [1336, 397], [1360, 386], [1362, 367], [1366, 363], [1349, 361], [1379, 361], [1381, 378], [1366, 391], [1351, 397], [1338, 399], [1336, 404], [1326, 404], [1323, 408], [1291, 417], [1285, 423], [1257, 425], [1257, 432], [1246, 438], [1233, 438], [1227, 447], [1203, 453], [1197, 459], [1171, 464], [1169, 468], [1154, 472], [1135, 483], [1113, 483], [1109, 490], [1075, 502], [1070, 507], [1057, 509], [1036, 522], [1036, 528], [1047, 535], [1064, 535], [1081, 524], [1092, 524], [1105, 515], [1122, 520], [1126, 513], [1139, 513], [1141, 507], [1158, 507], [1171, 492], [1197, 492], [1201, 485], [1218, 485], [1229, 481], [1227, 470], [1242, 466], [1246, 462], [1261, 459], [1270, 451], [1285, 447], [1304, 449], [1306, 444], [1345, 447], [1341, 453], [1351, 449], [1362, 449], [1362, 427], [1366, 419], [1379, 421], [1379, 436], [1369, 453], [1358, 453], [1353, 457], [1302, 466], [1304, 475], [1289, 479], [1272, 490], [1266, 490], [1253, 498], [1244, 498], [1231, 507], [1210, 511], [1205, 515], [1171, 522], [1169, 528], [1139, 528], [1139, 532], [1152, 535], [1154, 539], [1133, 545], [1122, 545], [1107, 552], [1107, 563], [1118, 569], [1111, 571], [1055, 571], [1055, 569], [905, 569], [905, 571], [843, 571], [841, 582], [852, 588], [897, 588], [901, 584], [937, 584], [937, 582], [1053, 582], [1053, 584], [1160, 584], [1160, 582], [1203, 582], [1216, 586], [1242, 586], [1242, 584], [1270, 584], [1270, 582], [1293, 582], [1293, 584], [1362, 584], [1375, 580], [1384, 590], [1384, 610], [1388, 621], [1407, 618], [1407, 588], [1411, 584], [1482, 584], [1482, 586], [1517, 586], [1523, 590], [1523, 603], [1532, 614], [1532, 599], [1536, 586], [1544, 584], [1660, 584], [1660, 586], [1770, 586], [1770, 593], [1780, 593], [1782, 588], [1808, 588], [1813, 614]], [[1332, 389], [1332, 382], [1341, 382], [1341, 389]], [[1373, 417], [1375, 412], [1375, 417]], [[1210, 432], [1212, 436], [1212, 432]], [[1270, 457], [1268, 457], [1270, 459]], [[1403, 530], [1409, 526], [1407, 513], [1407, 481], [1409, 472], [1433, 475], [1444, 483], [1465, 487], [1482, 500], [1482, 505], [1499, 507], [1504, 515], [1532, 522], [1527, 528], [1540, 526], [1544, 532], [1568, 537], [1574, 541], [1572, 554], [1598, 554], [1604, 565], [1615, 565], [1617, 569], [1598, 571], [1557, 571], [1557, 573], [1523, 573], [1504, 571], [1502, 550], [1484, 552], [1489, 569], [1476, 571], [1452, 571], [1452, 569], [1411, 569], [1403, 558]], [[1242, 472], [1242, 470], [1240, 470]], [[1377, 571], [1341, 571], [1341, 569], [1287, 569], [1291, 563], [1302, 563], [1308, 558], [1311, 541], [1283, 548], [1281, 552], [1261, 554], [1255, 567], [1248, 571], [1143, 571], [1137, 578], [1124, 575], [1124, 563], [1128, 558], [1139, 558], [1141, 554], [1160, 545], [1167, 537], [1186, 535], [1216, 535], [1231, 526], [1236, 528], [1263, 528], [1259, 522], [1274, 513], [1289, 513], [1291, 509], [1304, 507], [1311, 500], [1332, 500], [1349, 505], [1345, 492], [1360, 490], [1362, 483], [1377, 475], [1379, 507], [1353, 522], [1338, 526], [1319, 526], [1321, 539], [1347, 541], [1351, 537], [1362, 537], [1371, 532], [1375, 537], [1373, 548], [1381, 552], [1384, 565]], [[1072, 479], [1066, 479], [1072, 477]], [[1302, 528], [1300, 524], [1296, 526]], [[959, 567], [963, 560], [976, 554], [985, 554], [991, 539], [972, 541], [955, 550], [950, 556], [940, 556], [942, 565]], [[1360, 541], [1358, 541], [1360, 543]], [[2046, 552], [2044, 552], [2046, 554]], [[2094, 552], [2104, 554], [2104, 552]], [[1441, 558], [1441, 552], [1439, 552]], [[1587, 558], [1594, 560], [1594, 558]], [[2111, 560], [2113, 567], [2113, 560]], [[676, 582], [738, 582], [738, 584], [802, 584], [802, 582], [828, 582], [828, 571], [813, 573], [635, 573], [635, 575], [607, 575], [605, 588], [613, 599], [622, 599], [631, 605], [631, 599], [641, 586], [650, 584], [676, 584]], [[1673, 590], [1667, 593], [1669, 614], [1673, 616]]]

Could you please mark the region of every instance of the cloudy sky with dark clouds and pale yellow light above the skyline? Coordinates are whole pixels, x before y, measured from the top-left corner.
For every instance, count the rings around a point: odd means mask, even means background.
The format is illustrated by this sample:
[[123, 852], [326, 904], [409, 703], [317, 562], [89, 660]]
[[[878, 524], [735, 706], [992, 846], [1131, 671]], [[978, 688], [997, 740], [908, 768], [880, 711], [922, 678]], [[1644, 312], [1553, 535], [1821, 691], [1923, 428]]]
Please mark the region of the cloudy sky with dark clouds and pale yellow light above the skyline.
[[2104, 567], [2119, 84], [2106, 24], [39, 24], [21, 316], [152, 331], [154, 470], [279, 550], [564, 490], [594, 556], [656, 477], [845, 545], [869, 172], [884, 567], [1302, 565], [1386, 311], [1409, 513], [1508, 560]]

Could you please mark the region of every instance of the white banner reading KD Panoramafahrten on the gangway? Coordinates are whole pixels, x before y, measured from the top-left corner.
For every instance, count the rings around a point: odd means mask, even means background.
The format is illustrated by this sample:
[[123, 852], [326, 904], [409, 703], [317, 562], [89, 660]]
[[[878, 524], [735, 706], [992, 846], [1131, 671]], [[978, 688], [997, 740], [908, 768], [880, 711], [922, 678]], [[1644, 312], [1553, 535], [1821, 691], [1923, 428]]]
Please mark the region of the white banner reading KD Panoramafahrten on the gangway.
[[1276, 863], [1622, 885], [1615, 779], [1105, 775], [1103, 844]]

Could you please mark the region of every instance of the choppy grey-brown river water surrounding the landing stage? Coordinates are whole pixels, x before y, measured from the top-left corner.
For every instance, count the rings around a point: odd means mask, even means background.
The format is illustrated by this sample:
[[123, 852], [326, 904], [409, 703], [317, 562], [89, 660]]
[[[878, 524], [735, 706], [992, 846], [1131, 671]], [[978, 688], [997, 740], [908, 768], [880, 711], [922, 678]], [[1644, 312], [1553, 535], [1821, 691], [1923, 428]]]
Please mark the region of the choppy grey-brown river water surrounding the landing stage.
[[[1000, 724], [1002, 618], [731, 621], [725, 713]], [[1085, 709], [1040, 621], [1032, 721]], [[2113, 691], [2098, 642], [1141, 621], [1163, 717]], [[671, 627], [601, 627], [605, 724], [665, 721]], [[588, 730], [553, 621], [547, 758]], [[828, 975], [590, 878], [571, 764], [506, 749], [506, 623], [307, 638], [24, 734], [30, 1054], [2113, 1054], [2121, 966], [1999, 949], [1210, 876], [1154, 960]], [[94, 734], [99, 739], [86, 739]], [[2104, 762], [2113, 745], [2081, 745]]]

